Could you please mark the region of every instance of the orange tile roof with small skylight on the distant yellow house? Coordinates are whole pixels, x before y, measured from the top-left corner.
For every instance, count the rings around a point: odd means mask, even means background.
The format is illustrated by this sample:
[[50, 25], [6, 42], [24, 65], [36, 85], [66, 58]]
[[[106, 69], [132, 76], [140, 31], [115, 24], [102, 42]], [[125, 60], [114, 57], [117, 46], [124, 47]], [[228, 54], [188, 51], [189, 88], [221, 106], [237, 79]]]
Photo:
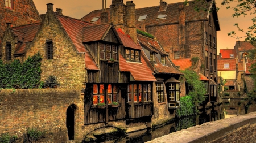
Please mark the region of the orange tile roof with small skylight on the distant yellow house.
[[[218, 71], [229, 71], [229, 70], [236, 70], [236, 59], [229, 58], [229, 59], [218, 59]], [[224, 68], [224, 64], [229, 64], [229, 68]]]

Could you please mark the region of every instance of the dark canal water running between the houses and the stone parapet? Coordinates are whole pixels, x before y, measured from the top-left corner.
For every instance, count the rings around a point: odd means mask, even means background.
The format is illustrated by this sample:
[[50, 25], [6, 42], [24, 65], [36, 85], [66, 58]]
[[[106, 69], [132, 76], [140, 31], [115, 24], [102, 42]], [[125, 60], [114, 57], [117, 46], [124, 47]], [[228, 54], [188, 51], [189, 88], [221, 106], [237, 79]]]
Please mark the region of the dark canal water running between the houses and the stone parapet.
[[129, 135], [101, 137], [97, 142], [107, 143], [137, 143], [147, 142], [172, 132], [180, 131], [195, 125], [200, 125], [210, 121], [216, 121], [232, 116], [244, 115], [256, 111], [256, 105], [246, 106], [247, 103], [241, 99], [224, 99], [223, 103], [211, 109], [202, 110], [199, 115], [188, 116], [181, 119], [175, 119], [174, 122], [156, 129], [148, 129], [129, 133]]

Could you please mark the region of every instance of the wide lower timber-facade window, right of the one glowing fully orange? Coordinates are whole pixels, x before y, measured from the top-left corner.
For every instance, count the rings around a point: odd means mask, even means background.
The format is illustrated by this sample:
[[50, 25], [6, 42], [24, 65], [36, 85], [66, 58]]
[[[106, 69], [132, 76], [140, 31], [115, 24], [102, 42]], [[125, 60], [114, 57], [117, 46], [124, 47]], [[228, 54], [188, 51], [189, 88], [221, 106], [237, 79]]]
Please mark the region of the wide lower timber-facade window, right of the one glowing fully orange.
[[151, 84], [129, 84], [128, 102], [132, 101], [132, 91], [134, 102], [152, 101]]

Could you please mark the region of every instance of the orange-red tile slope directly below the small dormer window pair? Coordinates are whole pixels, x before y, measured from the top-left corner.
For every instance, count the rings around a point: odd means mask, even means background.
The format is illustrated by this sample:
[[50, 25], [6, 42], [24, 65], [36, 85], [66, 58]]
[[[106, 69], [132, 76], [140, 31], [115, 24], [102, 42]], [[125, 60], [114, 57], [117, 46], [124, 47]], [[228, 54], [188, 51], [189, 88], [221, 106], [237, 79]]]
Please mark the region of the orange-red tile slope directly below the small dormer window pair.
[[130, 72], [135, 81], [156, 81], [152, 70], [147, 66], [146, 61], [141, 57], [139, 62], [127, 62], [121, 54], [119, 54], [120, 71]]

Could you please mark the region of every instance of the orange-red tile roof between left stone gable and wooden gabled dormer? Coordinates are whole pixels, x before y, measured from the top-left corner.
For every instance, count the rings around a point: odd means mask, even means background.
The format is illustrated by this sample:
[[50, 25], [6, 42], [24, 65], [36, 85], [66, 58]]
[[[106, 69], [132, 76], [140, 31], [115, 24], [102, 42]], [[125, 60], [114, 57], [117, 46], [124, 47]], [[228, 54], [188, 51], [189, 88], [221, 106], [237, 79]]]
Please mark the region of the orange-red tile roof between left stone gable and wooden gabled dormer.
[[86, 69], [99, 70], [96, 62], [92, 58], [92, 55], [89, 53], [88, 49], [86, 49], [85, 45], [82, 43], [82, 35], [84, 33], [83, 28], [91, 26], [93, 24], [63, 15], [57, 15], [57, 18], [60, 20], [60, 23], [63, 25], [63, 28], [67, 32], [69, 38], [71, 38], [73, 44], [76, 47], [77, 52], [85, 53]]

